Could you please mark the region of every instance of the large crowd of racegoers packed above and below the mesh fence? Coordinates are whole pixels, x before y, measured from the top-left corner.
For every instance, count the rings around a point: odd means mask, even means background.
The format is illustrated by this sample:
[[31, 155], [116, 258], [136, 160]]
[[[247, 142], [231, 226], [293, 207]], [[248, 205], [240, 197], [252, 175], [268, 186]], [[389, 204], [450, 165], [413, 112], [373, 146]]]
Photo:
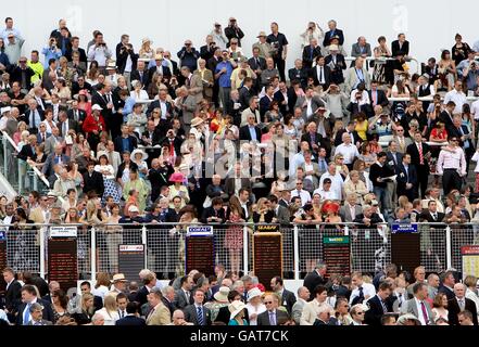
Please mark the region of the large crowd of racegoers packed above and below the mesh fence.
[[[380, 36], [374, 49], [360, 37], [346, 51], [348, 33], [336, 21], [327, 26], [325, 31], [308, 23], [302, 56], [286, 66], [289, 43], [278, 23], [245, 48], [231, 17], [225, 28], [215, 23], [199, 49], [187, 39], [172, 53], [149, 38], [136, 51], [127, 34], [113, 48], [100, 30], [84, 44], [61, 20], [47, 46], [27, 54], [22, 50], [27, 38], [8, 17], [0, 33], [0, 130], [16, 144], [21, 167], [39, 169], [49, 187], [34, 191], [21, 172], [28, 197], [1, 196], [2, 222], [11, 230], [36, 228], [25, 227], [29, 223], [181, 222], [174, 228], [179, 230], [184, 223], [370, 228], [479, 220], [479, 167], [475, 178], [469, 174], [470, 162], [479, 162], [479, 101], [467, 98], [479, 97], [479, 41], [470, 48], [457, 34], [451, 51], [412, 74], [414, 44], [404, 34], [391, 46]], [[225, 246], [240, 249], [242, 233], [231, 230]], [[144, 322], [136, 316], [147, 323], [203, 325], [222, 312], [226, 324], [236, 312], [232, 324], [259, 325], [329, 324], [332, 317], [336, 324], [391, 323], [394, 314], [383, 313], [400, 311], [415, 314], [400, 318], [404, 324], [458, 319], [451, 306], [444, 314], [446, 305], [436, 300], [436, 292], [426, 295], [432, 284], [424, 277], [414, 281], [391, 272], [363, 295], [366, 277], [356, 273], [351, 284], [340, 278], [330, 285], [305, 284], [292, 303], [295, 295], [285, 299], [281, 278], [275, 279], [279, 296], [264, 296], [254, 275], [238, 279], [236, 257], [228, 275], [223, 271], [209, 281], [177, 273], [167, 288], [153, 290], [154, 273], [143, 273], [141, 300], [131, 283], [110, 297], [108, 280], [102, 295], [86, 282], [85, 292], [70, 301], [50, 283], [47, 304], [48, 293], [23, 279], [10, 301], [16, 306], [7, 312], [16, 313], [11, 321], [18, 324], [63, 321], [59, 310], [78, 324], [113, 322], [118, 307], [138, 324]], [[307, 271], [323, 281], [324, 265], [315, 269], [315, 260]], [[3, 274], [9, 293], [16, 280], [11, 269]], [[444, 290], [450, 305], [454, 298], [459, 303], [458, 322], [477, 324], [477, 310], [467, 299], [465, 310], [461, 301], [470, 291], [476, 295], [476, 284], [466, 291], [450, 274], [442, 287], [450, 291]], [[351, 290], [364, 301], [370, 298], [369, 306], [348, 299]], [[302, 313], [294, 314], [298, 306]]]

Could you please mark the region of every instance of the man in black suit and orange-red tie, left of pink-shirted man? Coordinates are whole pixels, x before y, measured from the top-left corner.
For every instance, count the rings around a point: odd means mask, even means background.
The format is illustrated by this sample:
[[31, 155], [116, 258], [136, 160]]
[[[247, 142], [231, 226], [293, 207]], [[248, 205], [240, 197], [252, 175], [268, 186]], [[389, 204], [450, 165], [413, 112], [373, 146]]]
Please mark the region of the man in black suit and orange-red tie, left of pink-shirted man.
[[431, 152], [429, 145], [426, 142], [423, 142], [423, 136], [419, 131], [414, 134], [414, 143], [407, 146], [406, 153], [411, 155], [411, 163], [416, 167], [416, 189], [420, 192], [420, 194], [416, 193], [416, 196], [425, 198], [426, 190], [428, 188], [429, 157], [431, 156]]

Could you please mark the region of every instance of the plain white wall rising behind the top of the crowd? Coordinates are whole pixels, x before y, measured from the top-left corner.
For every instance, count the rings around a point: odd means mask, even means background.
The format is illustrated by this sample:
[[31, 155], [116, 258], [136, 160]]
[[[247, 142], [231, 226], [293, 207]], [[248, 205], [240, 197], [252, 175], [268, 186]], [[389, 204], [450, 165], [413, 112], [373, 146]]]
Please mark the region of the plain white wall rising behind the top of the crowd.
[[454, 35], [461, 33], [470, 46], [479, 40], [476, 30], [477, 2], [464, 0], [461, 8], [446, 0], [202, 0], [202, 1], [93, 1], [49, 0], [41, 2], [16, 0], [4, 7], [2, 16], [12, 16], [15, 27], [27, 38], [24, 53], [42, 48], [58, 20], [64, 17], [74, 35], [86, 47], [93, 29], [101, 29], [111, 48], [119, 42], [122, 34], [129, 34], [138, 51], [141, 38], [148, 36], [153, 47], [163, 47], [174, 55], [185, 39], [193, 41], [197, 49], [203, 44], [215, 21], [224, 26], [235, 15], [245, 34], [243, 47], [251, 55], [251, 44], [257, 33], [269, 33], [269, 24], [276, 21], [279, 30], [290, 42], [288, 66], [299, 56], [301, 41], [308, 21], [327, 28], [327, 21], [336, 18], [339, 28], [345, 33], [345, 49], [358, 36], [365, 36], [374, 48], [377, 37], [385, 35], [390, 43], [398, 33], [404, 31], [412, 42], [411, 54], [420, 61], [440, 55], [440, 50], [451, 49]]

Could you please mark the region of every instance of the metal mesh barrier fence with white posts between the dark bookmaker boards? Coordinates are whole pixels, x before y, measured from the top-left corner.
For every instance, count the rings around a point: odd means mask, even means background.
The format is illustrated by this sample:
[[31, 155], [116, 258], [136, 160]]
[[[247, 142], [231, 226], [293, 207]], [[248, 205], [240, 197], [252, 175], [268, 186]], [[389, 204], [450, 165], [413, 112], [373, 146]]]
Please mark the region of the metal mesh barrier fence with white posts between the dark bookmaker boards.
[[[68, 224], [72, 226], [72, 224]], [[2, 226], [5, 231], [7, 266], [48, 277], [50, 227]], [[94, 279], [97, 272], [118, 271], [118, 246], [146, 245], [147, 267], [159, 278], [172, 279], [185, 270], [186, 232], [172, 232], [178, 224], [149, 223], [128, 226], [77, 226], [77, 267], [79, 279]], [[479, 244], [479, 226], [418, 226], [420, 265], [427, 272], [449, 268], [462, 271], [461, 248]], [[254, 224], [218, 224], [214, 229], [214, 264], [248, 273], [253, 270]], [[181, 230], [185, 228], [180, 228]], [[325, 258], [325, 236], [350, 236], [350, 269], [375, 273], [391, 262], [391, 231], [388, 226], [363, 229], [353, 223], [341, 226], [307, 224], [280, 227], [282, 234], [282, 275], [301, 279], [317, 260]], [[1, 250], [0, 250], [1, 252]], [[419, 265], [419, 264], [418, 264]]]

